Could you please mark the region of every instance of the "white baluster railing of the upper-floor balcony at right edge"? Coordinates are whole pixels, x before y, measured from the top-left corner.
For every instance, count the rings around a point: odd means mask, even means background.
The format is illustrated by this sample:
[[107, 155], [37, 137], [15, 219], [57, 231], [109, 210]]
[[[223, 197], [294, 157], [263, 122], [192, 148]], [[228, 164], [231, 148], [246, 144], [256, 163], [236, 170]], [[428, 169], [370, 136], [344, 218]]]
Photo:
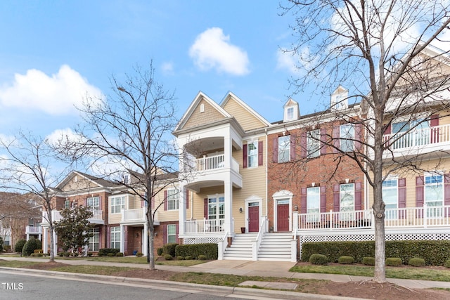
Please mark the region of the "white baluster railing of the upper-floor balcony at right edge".
[[383, 136], [391, 150], [413, 148], [418, 146], [449, 143], [450, 124], [432, 126], [426, 129], [413, 129], [407, 133], [392, 133]]

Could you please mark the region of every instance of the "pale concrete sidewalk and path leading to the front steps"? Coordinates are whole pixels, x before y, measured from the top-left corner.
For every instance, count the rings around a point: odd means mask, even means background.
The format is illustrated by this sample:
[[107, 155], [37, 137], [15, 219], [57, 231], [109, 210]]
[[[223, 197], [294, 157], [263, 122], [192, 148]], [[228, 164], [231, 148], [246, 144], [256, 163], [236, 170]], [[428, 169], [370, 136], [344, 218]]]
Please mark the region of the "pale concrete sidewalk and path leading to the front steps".
[[[46, 259], [34, 259], [24, 257], [4, 257], [0, 259], [8, 261], [46, 261]], [[88, 260], [70, 260], [70, 259], [56, 259], [56, 261], [67, 263], [71, 265], [92, 265], [92, 266], [123, 266], [130, 268], [148, 268], [143, 263], [108, 263], [103, 261], [88, 261]], [[351, 275], [337, 275], [337, 274], [322, 274], [322, 273], [295, 273], [289, 272], [290, 268], [295, 266], [295, 263], [286, 261], [210, 261], [207, 263], [200, 263], [195, 266], [165, 266], [156, 265], [159, 270], [170, 270], [174, 272], [203, 272], [203, 273], [220, 273], [246, 276], [266, 276], [278, 278], [300, 278], [300, 279], [316, 279], [316, 280], [331, 280], [335, 282], [354, 282], [361, 280], [371, 280], [371, 277], [351, 276]], [[409, 289], [429, 289], [432, 287], [440, 287], [450, 289], [450, 282], [428, 281], [428, 280], [407, 280], [387, 278], [387, 281], [407, 287]], [[243, 282], [241, 285], [258, 285], [261, 287], [273, 287], [269, 283], [275, 282]], [[280, 282], [278, 282], [280, 283]], [[269, 286], [268, 286], [269, 285]], [[287, 287], [287, 286], [286, 286]], [[280, 288], [286, 288], [280, 287]], [[294, 289], [295, 287], [287, 287], [287, 289]]]

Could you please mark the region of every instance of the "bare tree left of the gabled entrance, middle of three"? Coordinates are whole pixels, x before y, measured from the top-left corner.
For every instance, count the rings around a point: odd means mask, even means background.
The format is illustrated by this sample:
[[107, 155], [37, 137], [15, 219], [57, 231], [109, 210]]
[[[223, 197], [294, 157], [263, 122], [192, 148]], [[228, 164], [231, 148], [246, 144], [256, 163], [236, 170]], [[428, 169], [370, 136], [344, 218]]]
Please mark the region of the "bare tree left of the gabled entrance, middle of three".
[[113, 96], [86, 99], [79, 107], [85, 124], [76, 129], [77, 140], [64, 139], [60, 150], [75, 159], [91, 157], [91, 166], [103, 159], [114, 162], [114, 168], [99, 168], [103, 176], [147, 202], [148, 262], [154, 270], [155, 212], [162, 202], [152, 202], [178, 181], [179, 152], [171, 135], [176, 124], [174, 94], [155, 81], [151, 63], [148, 70], [135, 67], [134, 71], [123, 84], [112, 77]]

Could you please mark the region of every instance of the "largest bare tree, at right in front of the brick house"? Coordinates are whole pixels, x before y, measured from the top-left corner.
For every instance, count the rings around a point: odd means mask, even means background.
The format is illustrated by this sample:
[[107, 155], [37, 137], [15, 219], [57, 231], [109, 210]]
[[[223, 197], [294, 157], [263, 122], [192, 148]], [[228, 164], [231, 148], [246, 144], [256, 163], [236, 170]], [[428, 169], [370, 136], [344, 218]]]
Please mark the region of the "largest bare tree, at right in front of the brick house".
[[[420, 169], [420, 153], [397, 159], [391, 145], [449, 106], [444, 93], [449, 87], [448, 71], [442, 68], [449, 64], [448, 51], [435, 49], [423, 54], [433, 42], [444, 44], [443, 33], [450, 24], [449, 4], [426, 0], [288, 0], [282, 8], [284, 15], [292, 13], [295, 18], [295, 42], [285, 51], [299, 58], [300, 76], [291, 81], [297, 91], [311, 82], [321, 86], [324, 93], [342, 84], [352, 91], [342, 101], [361, 100], [361, 120], [335, 110], [336, 119], [360, 124], [366, 136], [363, 141], [354, 141], [362, 142], [361, 150], [340, 155], [354, 159], [373, 188], [374, 280], [385, 282], [382, 183], [392, 171]], [[415, 125], [383, 140], [399, 116], [408, 116]], [[340, 150], [333, 140], [329, 135], [322, 142]]]

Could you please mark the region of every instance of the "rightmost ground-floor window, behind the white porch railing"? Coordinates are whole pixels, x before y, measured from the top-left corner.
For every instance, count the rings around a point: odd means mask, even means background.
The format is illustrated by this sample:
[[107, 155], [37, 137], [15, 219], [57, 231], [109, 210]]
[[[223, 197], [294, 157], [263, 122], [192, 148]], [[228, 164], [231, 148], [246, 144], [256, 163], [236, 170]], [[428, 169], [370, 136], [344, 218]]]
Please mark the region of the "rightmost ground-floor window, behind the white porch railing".
[[444, 199], [444, 176], [439, 174], [426, 174], [425, 178], [425, 203], [429, 207], [427, 209], [427, 216], [439, 217], [442, 216], [440, 209]]

